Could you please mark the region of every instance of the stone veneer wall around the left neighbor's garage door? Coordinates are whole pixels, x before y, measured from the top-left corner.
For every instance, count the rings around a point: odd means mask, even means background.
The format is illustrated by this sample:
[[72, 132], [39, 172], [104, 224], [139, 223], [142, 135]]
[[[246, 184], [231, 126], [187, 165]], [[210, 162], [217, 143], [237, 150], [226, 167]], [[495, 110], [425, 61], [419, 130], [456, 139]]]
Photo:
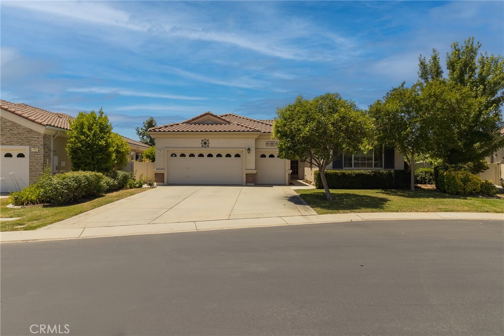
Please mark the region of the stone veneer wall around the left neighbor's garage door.
[[[42, 175], [45, 165], [51, 164], [51, 136], [6, 118], [0, 119], [0, 144], [30, 147], [30, 184]], [[38, 151], [34, 152], [34, 148]]]

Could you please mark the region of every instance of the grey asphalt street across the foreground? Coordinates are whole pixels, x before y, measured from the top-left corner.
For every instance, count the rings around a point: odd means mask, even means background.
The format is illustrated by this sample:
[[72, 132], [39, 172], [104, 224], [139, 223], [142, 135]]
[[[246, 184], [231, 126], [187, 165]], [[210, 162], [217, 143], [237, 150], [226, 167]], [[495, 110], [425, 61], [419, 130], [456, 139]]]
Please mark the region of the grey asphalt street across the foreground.
[[501, 335], [503, 228], [361, 221], [6, 243], [0, 332]]

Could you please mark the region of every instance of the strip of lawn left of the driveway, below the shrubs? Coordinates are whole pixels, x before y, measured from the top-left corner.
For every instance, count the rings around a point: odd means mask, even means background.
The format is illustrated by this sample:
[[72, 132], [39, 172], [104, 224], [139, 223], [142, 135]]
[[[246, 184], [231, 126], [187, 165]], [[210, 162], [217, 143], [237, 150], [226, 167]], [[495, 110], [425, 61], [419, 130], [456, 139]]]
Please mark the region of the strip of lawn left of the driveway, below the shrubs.
[[20, 209], [12, 209], [7, 208], [7, 206], [11, 203], [10, 199], [2, 198], [0, 199], [0, 217], [21, 218], [15, 221], [0, 222], [0, 231], [35, 230], [146, 190], [149, 189], [139, 188], [119, 190], [107, 193], [101, 197], [97, 197], [84, 203], [64, 207], [27, 206]]

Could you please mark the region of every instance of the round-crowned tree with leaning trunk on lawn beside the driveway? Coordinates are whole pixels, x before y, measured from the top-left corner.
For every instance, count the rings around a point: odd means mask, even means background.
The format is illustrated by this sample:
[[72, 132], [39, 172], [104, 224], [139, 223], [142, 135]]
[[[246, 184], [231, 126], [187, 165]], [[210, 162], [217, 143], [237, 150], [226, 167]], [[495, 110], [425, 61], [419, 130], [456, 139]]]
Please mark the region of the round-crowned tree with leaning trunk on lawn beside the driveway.
[[326, 180], [326, 167], [343, 153], [366, 148], [371, 127], [369, 116], [337, 93], [327, 93], [277, 110], [273, 137], [278, 153], [288, 160], [306, 161], [319, 169], [327, 199], [333, 200]]

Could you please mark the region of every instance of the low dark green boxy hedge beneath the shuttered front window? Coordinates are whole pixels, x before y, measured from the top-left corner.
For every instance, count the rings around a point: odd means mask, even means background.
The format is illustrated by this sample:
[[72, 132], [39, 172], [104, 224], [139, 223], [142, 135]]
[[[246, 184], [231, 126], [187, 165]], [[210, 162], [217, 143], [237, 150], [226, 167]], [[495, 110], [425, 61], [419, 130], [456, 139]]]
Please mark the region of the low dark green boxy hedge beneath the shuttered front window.
[[[408, 188], [410, 173], [407, 170], [326, 170], [330, 189], [403, 189]], [[313, 172], [318, 189], [323, 189], [318, 170]]]

